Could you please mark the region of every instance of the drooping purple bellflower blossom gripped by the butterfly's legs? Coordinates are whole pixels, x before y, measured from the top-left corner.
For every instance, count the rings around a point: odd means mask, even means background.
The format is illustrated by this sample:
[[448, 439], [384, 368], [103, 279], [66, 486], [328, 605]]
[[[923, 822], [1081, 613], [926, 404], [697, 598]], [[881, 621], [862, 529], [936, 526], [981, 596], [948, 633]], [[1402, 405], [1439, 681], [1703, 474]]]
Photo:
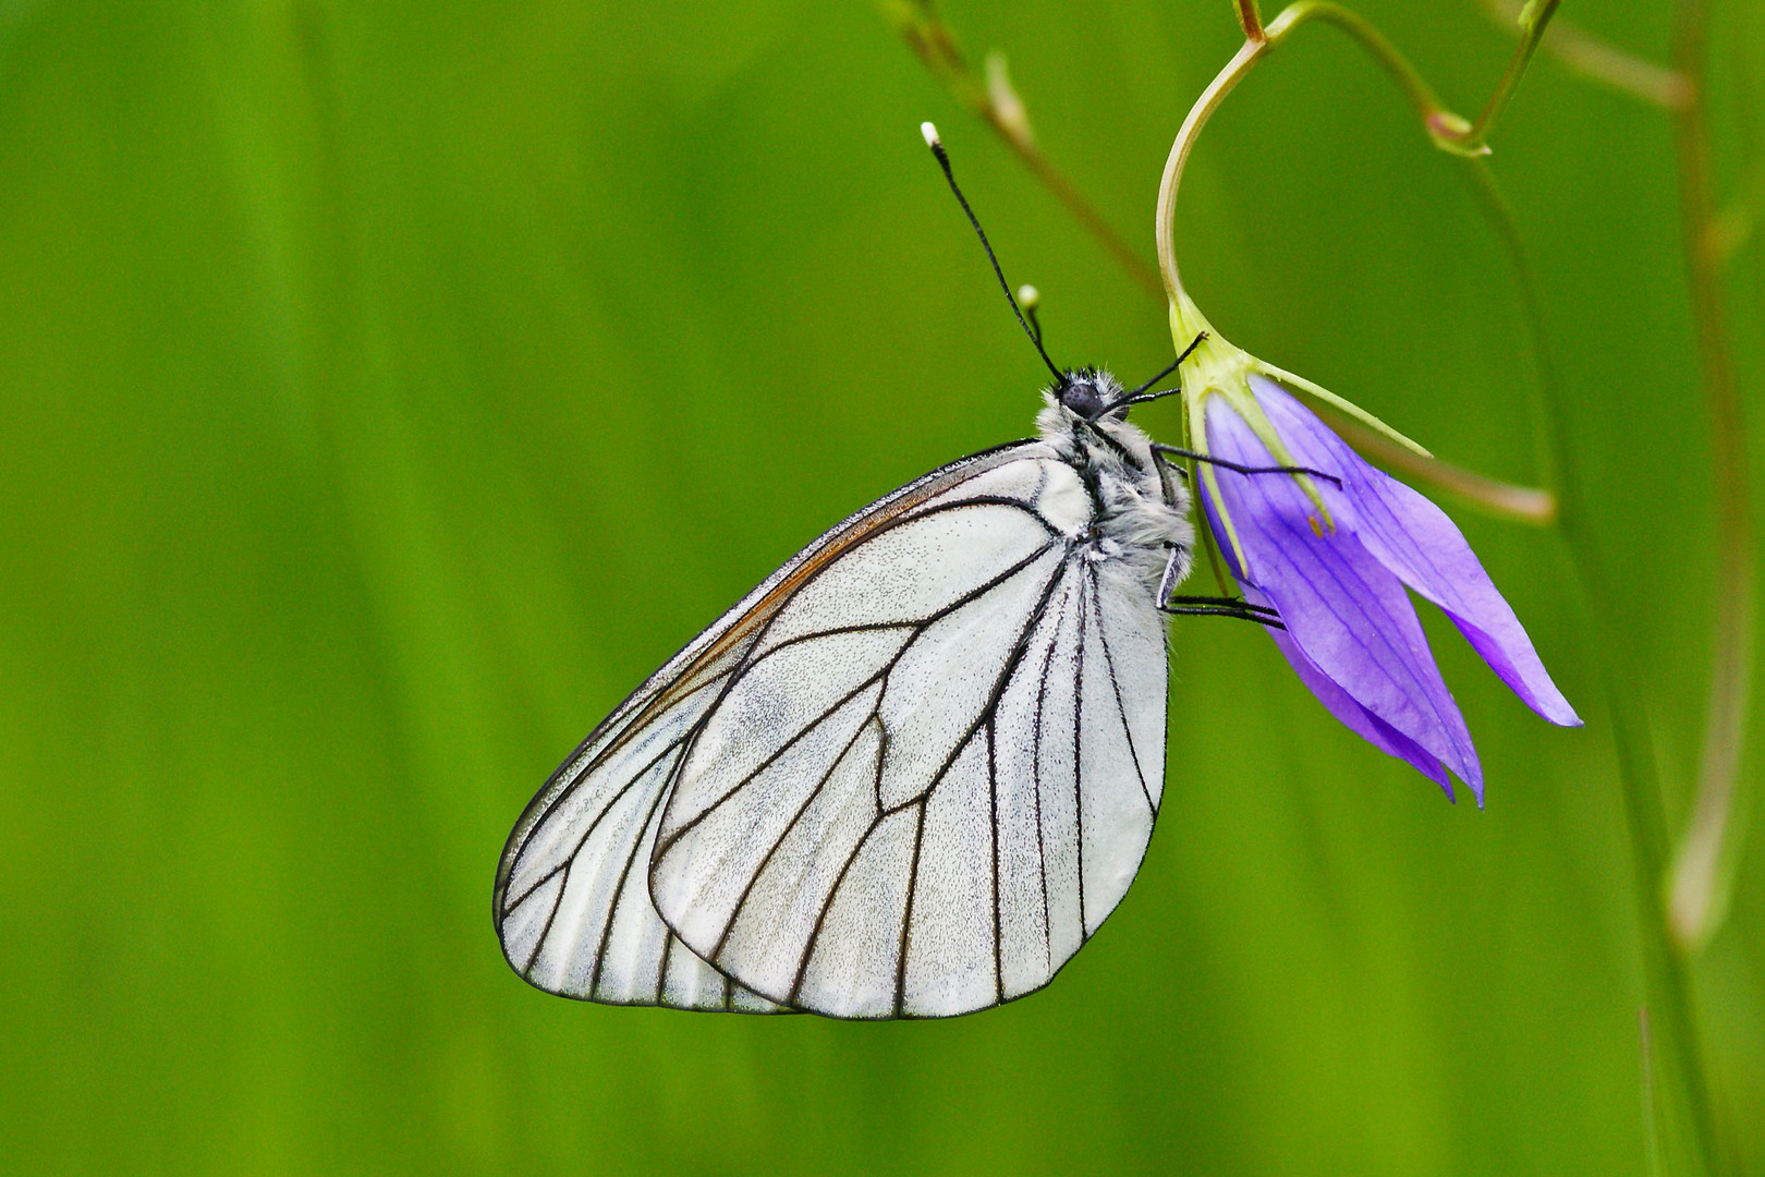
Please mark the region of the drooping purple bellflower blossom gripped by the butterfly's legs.
[[[1269, 630], [1274, 644], [1331, 715], [1414, 764], [1447, 798], [1451, 771], [1483, 805], [1477, 750], [1405, 586], [1440, 605], [1528, 708], [1551, 723], [1580, 725], [1580, 716], [1438, 506], [1361, 461], [1273, 379], [1239, 379], [1248, 397], [1198, 399], [1205, 452], [1251, 468], [1304, 466], [1340, 485], [1218, 464], [1198, 469], [1207, 522], [1232, 575], [1251, 603], [1280, 614], [1285, 630]], [[1246, 411], [1262, 420], [1246, 420]], [[1271, 434], [1273, 446], [1264, 441]]]

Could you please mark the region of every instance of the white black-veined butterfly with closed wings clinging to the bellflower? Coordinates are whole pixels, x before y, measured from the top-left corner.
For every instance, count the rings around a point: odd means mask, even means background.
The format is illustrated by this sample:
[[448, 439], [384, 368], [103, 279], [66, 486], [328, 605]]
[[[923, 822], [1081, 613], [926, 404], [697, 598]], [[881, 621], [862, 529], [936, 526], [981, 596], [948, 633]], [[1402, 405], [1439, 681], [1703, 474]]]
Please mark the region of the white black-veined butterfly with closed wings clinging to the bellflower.
[[1165, 614], [1278, 619], [1174, 595], [1195, 531], [1172, 459], [1197, 455], [1126, 418], [1174, 392], [1147, 388], [1175, 364], [1124, 390], [1055, 367], [1018, 321], [1054, 372], [1036, 438], [826, 531], [528, 805], [492, 903], [526, 981], [609, 1004], [950, 1016], [1045, 986], [1121, 902], [1163, 796]]

